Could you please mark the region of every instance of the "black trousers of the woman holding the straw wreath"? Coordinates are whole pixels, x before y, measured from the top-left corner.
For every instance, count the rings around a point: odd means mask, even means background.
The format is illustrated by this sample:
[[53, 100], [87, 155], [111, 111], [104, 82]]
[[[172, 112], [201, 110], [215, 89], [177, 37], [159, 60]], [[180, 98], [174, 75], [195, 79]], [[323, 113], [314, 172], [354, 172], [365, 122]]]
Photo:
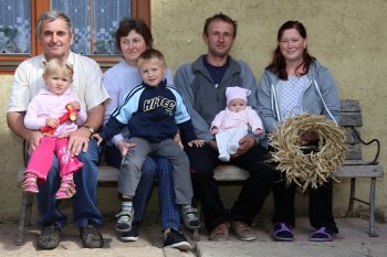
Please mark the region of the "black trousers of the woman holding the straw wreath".
[[[284, 174], [278, 172], [276, 182], [273, 186], [274, 195], [274, 215], [273, 223], [289, 223], [295, 225], [294, 196], [296, 185], [286, 184]], [[335, 219], [332, 213], [333, 197], [332, 180], [328, 180], [317, 189], [308, 188], [308, 216], [311, 225], [315, 228], [327, 227], [338, 233]]]

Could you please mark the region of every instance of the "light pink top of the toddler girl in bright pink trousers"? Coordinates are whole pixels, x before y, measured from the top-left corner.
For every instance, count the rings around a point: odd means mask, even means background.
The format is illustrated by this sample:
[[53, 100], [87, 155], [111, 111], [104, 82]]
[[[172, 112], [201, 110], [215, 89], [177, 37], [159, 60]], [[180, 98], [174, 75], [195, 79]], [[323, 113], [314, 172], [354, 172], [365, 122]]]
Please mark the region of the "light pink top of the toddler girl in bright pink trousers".
[[[24, 125], [29, 129], [41, 129], [45, 126], [46, 118], [59, 118], [67, 110], [65, 105], [76, 100], [71, 89], [67, 89], [63, 95], [54, 95], [45, 88], [39, 90], [39, 93], [32, 98], [27, 109], [24, 117]], [[84, 110], [80, 110], [74, 122], [67, 120], [61, 124], [54, 131], [54, 136], [60, 136], [65, 132], [75, 131], [77, 125], [83, 125], [87, 119], [87, 114]]]

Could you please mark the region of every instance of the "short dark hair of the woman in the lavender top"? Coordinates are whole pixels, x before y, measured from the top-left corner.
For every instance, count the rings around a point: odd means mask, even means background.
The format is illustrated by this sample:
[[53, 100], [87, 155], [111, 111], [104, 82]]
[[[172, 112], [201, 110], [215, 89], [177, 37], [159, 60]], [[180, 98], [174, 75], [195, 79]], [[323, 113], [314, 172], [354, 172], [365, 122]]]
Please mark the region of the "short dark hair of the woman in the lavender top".
[[130, 31], [136, 31], [136, 33], [140, 34], [144, 38], [145, 44], [147, 49], [151, 49], [154, 43], [154, 38], [151, 36], [151, 32], [148, 25], [140, 19], [133, 18], [124, 18], [119, 22], [119, 26], [116, 31], [116, 46], [121, 50], [121, 38], [127, 36]]

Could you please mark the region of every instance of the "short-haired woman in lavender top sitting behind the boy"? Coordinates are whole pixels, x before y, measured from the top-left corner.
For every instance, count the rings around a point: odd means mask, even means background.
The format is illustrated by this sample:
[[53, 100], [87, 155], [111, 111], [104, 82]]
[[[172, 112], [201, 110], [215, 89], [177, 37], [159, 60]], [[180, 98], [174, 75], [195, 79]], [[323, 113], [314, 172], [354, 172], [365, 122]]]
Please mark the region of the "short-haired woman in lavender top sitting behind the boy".
[[[149, 28], [138, 19], [125, 18], [121, 21], [116, 31], [116, 45], [123, 53], [123, 60], [106, 71], [104, 85], [111, 95], [111, 103], [106, 106], [105, 119], [107, 122], [112, 110], [124, 101], [125, 95], [135, 86], [142, 83], [137, 68], [139, 55], [153, 45], [153, 36]], [[167, 73], [167, 83], [172, 84], [170, 71]], [[126, 141], [129, 132], [123, 131], [115, 136], [106, 146], [106, 162], [109, 165], [119, 168], [122, 157], [132, 148]], [[172, 167], [167, 159], [148, 157], [142, 168], [142, 178], [132, 203], [123, 201], [122, 210], [134, 208], [134, 223], [128, 232], [121, 233], [122, 240], [137, 240], [138, 224], [143, 219], [145, 206], [153, 188], [155, 178], [159, 182], [159, 204], [161, 211], [161, 229], [164, 232], [164, 246], [182, 250], [190, 248], [190, 244], [179, 232], [180, 208], [175, 201]], [[119, 182], [118, 182], [119, 183]], [[132, 212], [133, 213], [133, 212]], [[119, 226], [118, 217], [117, 226]], [[118, 229], [119, 231], [119, 229]]]

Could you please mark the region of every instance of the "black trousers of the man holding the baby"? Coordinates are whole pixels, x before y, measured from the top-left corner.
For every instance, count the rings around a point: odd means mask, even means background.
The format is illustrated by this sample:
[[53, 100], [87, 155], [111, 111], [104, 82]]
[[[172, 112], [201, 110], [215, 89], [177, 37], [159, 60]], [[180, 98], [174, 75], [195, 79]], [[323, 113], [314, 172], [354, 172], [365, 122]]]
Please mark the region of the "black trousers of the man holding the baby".
[[224, 208], [213, 179], [213, 169], [222, 163], [218, 160], [218, 152], [206, 144], [201, 148], [188, 148], [187, 154], [191, 164], [194, 194], [202, 204], [206, 228], [211, 232], [220, 223], [230, 221], [250, 224], [261, 210], [275, 180], [276, 172], [265, 162], [268, 151], [255, 146], [245, 154], [230, 160], [230, 164], [250, 172], [250, 178], [244, 181], [230, 211]]

